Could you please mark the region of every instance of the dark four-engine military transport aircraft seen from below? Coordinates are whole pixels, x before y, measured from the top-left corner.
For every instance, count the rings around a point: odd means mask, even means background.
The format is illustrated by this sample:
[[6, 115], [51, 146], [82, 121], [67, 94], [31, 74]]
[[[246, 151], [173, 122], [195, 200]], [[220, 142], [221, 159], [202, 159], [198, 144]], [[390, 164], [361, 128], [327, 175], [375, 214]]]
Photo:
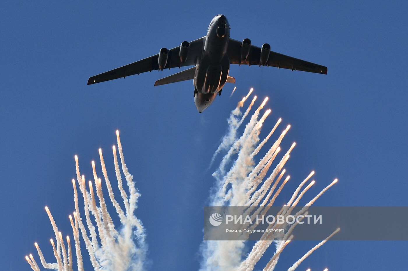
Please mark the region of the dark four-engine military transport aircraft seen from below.
[[217, 93], [221, 96], [226, 82], [235, 83], [235, 78], [228, 75], [230, 64], [272, 66], [327, 74], [327, 67], [275, 53], [267, 43], [259, 48], [251, 45], [250, 39], [244, 39], [242, 42], [230, 39], [228, 20], [219, 14], [211, 20], [206, 36], [192, 42], [184, 41], [170, 50], [161, 48], [157, 55], [95, 75], [89, 78], [88, 85], [148, 71], [194, 65], [185, 71], [157, 80], [154, 85], [193, 79], [194, 102], [201, 113], [210, 106]]

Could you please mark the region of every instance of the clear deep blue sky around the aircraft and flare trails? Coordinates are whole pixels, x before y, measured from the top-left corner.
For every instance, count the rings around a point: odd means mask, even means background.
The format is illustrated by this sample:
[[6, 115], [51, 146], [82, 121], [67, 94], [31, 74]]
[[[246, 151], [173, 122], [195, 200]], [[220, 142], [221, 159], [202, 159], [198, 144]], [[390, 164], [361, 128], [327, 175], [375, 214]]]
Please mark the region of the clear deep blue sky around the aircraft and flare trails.
[[[90, 176], [98, 148], [111, 153], [116, 129], [142, 193], [137, 212], [151, 269], [197, 269], [214, 181], [206, 168], [229, 112], [250, 87], [270, 97], [264, 125], [279, 117], [292, 125], [283, 143], [298, 143], [287, 167], [292, 179], [315, 170], [317, 193], [339, 178], [316, 204], [408, 205], [407, 11], [405, 1], [2, 1], [1, 269], [29, 270], [24, 255], [35, 252], [34, 241], [52, 259], [44, 205], [71, 234], [73, 156]], [[203, 114], [191, 81], [153, 87], [173, 71], [86, 86], [92, 75], [204, 36], [219, 13], [232, 38], [268, 42], [273, 51], [328, 66], [328, 75], [232, 66], [235, 94], [229, 98], [227, 85]], [[288, 245], [279, 270], [315, 243]], [[299, 270], [406, 270], [407, 248], [403, 241], [333, 241]]]

